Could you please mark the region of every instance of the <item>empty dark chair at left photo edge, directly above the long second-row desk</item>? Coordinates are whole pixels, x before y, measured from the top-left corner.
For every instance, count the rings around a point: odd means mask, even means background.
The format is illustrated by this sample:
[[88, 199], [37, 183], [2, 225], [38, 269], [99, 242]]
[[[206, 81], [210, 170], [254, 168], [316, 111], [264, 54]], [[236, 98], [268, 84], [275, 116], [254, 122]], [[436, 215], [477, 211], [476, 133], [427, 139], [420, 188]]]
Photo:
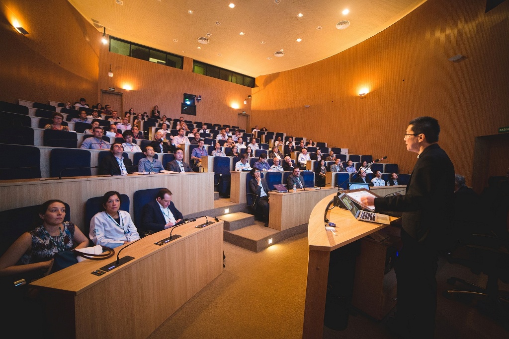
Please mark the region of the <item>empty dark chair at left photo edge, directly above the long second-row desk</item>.
[[41, 177], [41, 151], [38, 147], [0, 144], [0, 154], [9, 159], [0, 163], [2, 180]]

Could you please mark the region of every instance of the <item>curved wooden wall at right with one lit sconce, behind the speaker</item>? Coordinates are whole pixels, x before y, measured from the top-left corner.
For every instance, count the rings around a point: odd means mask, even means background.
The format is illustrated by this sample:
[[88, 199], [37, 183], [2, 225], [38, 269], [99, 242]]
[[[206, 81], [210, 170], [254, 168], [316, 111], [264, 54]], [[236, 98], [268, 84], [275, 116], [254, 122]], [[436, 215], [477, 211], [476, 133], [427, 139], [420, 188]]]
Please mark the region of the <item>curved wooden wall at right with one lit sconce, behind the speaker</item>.
[[[476, 136], [509, 125], [509, 3], [428, 0], [383, 32], [298, 69], [260, 76], [251, 125], [388, 156], [401, 172], [408, 121], [440, 121], [440, 145], [470, 184]], [[463, 54], [466, 59], [447, 59]], [[367, 87], [369, 93], [359, 99]], [[306, 108], [305, 105], [310, 107]]]

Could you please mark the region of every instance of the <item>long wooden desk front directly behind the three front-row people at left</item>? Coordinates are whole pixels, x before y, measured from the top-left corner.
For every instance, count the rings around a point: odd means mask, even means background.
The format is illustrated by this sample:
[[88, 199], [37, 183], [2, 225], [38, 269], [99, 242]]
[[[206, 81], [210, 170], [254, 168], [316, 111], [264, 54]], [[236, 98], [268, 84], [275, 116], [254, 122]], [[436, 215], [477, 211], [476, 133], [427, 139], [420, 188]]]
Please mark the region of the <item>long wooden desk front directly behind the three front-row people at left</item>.
[[172, 191], [172, 201], [184, 215], [214, 208], [214, 173], [187, 172], [82, 176], [61, 180], [2, 180], [0, 210], [60, 199], [69, 204], [71, 220], [83, 230], [85, 204], [89, 198], [103, 196], [108, 191], [127, 194], [131, 200], [129, 212], [133, 215], [134, 192], [159, 187]]

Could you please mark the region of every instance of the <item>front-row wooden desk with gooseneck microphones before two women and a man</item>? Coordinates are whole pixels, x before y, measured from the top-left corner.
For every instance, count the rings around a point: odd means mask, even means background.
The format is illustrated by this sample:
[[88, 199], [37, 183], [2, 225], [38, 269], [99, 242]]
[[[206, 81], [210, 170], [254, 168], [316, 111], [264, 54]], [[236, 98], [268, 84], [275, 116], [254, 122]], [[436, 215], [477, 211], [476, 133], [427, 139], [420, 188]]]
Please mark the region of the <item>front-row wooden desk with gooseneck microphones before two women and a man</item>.
[[154, 242], [169, 229], [138, 240], [120, 253], [133, 260], [101, 276], [91, 272], [115, 259], [85, 260], [32, 283], [45, 292], [47, 314], [59, 315], [50, 316], [55, 337], [146, 338], [223, 271], [223, 222], [194, 227], [202, 223], [176, 228], [182, 237], [161, 246]]

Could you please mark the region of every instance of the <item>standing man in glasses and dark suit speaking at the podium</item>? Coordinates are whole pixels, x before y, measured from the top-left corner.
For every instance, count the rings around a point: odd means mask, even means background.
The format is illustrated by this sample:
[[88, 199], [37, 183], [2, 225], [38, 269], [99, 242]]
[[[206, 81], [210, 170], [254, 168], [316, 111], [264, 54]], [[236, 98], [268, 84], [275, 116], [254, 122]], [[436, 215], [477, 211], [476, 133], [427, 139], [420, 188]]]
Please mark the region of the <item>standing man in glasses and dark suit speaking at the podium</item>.
[[395, 264], [398, 311], [392, 329], [402, 337], [432, 338], [437, 301], [438, 253], [448, 238], [454, 202], [454, 165], [438, 145], [435, 118], [410, 121], [405, 132], [408, 151], [418, 153], [406, 194], [361, 198], [376, 210], [402, 211], [403, 247]]

